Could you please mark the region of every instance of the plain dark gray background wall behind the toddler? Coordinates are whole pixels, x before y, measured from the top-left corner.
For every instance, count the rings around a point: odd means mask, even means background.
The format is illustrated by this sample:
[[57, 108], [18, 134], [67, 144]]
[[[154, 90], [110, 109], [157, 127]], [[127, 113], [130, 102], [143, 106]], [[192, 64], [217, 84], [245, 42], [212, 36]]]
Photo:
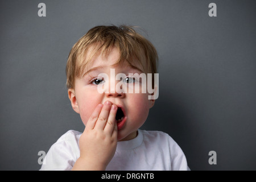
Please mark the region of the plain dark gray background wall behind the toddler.
[[[46, 3], [46, 17], [38, 4]], [[217, 17], [208, 16], [210, 2]], [[142, 129], [161, 130], [192, 170], [256, 169], [255, 1], [1, 1], [0, 169], [38, 170], [38, 152], [83, 131], [65, 88], [75, 42], [128, 24], [159, 53], [159, 98]], [[208, 163], [209, 151], [217, 164]]]

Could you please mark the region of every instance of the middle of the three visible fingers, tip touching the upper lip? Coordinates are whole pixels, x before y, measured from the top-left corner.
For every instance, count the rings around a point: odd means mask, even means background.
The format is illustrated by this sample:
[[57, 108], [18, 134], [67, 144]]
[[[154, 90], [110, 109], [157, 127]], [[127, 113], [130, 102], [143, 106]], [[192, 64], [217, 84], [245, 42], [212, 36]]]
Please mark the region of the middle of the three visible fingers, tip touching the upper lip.
[[109, 111], [110, 111], [111, 105], [112, 103], [110, 101], [106, 101], [104, 103], [104, 106], [101, 109], [101, 113], [98, 116], [94, 129], [100, 129], [100, 130], [104, 129], [106, 125], [106, 121], [108, 120], [108, 117], [109, 117]]

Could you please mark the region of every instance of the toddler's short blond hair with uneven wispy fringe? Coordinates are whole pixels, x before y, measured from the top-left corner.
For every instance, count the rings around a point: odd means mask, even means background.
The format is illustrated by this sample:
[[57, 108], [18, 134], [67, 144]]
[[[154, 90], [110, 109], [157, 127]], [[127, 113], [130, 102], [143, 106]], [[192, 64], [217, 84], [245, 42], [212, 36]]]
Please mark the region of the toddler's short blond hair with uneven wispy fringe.
[[[155, 47], [130, 26], [97, 26], [82, 36], [69, 52], [66, 74], [67, 87], [75, 88], [75, 78], [82, 77], [93, 57], [108, 56], [113, 48], [119, 51], [117, 64], [142, 65], [144, 72], [156, 73], [158, 54]], [[146, 60], [146, 65], [142, 64]], [[154, 76], [152, 76], [154, 79]]]

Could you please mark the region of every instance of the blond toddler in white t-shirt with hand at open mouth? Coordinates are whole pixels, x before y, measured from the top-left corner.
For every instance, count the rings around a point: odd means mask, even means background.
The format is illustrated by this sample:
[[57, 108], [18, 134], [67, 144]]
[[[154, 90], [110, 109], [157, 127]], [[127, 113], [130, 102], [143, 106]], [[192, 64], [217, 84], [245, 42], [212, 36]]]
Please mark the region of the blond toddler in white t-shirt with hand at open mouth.
[[82, 36], [66, 73], [71, 105], [86, 127], [61, 136], [40, 170], [189, 169], [168, 134], [139, 130], [155, 103], [157, 60], [154, 46], [131, 27], [97, 26]]

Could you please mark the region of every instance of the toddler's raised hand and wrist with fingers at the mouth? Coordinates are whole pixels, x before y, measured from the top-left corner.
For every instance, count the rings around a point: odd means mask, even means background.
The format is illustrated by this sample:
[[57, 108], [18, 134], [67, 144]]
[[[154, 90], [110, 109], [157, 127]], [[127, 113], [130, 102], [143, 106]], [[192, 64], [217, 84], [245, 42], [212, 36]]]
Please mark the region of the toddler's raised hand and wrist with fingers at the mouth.
[[106, 101], [93, 111], [79, 140], [80, 158], [72, 170], [105, 170], [117, 148], [117, 106]]

